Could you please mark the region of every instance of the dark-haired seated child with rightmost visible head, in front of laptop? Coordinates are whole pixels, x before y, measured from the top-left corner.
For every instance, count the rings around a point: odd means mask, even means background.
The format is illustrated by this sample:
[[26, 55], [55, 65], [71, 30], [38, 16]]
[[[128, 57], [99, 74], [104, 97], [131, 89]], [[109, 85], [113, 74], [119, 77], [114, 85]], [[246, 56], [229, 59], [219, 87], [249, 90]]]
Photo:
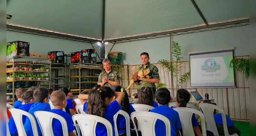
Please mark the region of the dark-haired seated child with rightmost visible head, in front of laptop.
[[[187, 103], [190, 101], [191, 94], [185, 89], [179, 89], [177, 90], [177, 107], [187, 107]], [[175, 107], [172, 107], [175, 108]], [[199, 128], [199, 124], [197, 121], [197, 118], [195, 114], [192, 116], [192, 126], [194, 129], [195, 136], [202, 136], [202, 130]], [[182, 131], [181, 131], [182, 132]], [[214, 136], [214, 134], [211, 131], [206, 130], [207, 136]]]

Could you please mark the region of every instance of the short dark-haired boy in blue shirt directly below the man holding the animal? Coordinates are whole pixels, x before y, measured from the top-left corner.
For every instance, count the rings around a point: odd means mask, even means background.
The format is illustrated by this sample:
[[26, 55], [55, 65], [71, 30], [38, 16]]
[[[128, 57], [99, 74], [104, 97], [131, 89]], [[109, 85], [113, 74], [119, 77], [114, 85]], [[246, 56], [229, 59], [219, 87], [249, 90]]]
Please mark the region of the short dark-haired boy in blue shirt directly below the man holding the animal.
[[[171, 102], [170, 91], [166, 88], [159, 88], [157, 89], [155, 96], [155, 101], [159, 106], [152, 109], [150, 112], [158, 113], [168, 118], [171, 122], [171, 136], [178, 136], [179, 130], [181, 129], [181, 123], [178, 112], [168, 106], [169, 102]], [[163, 121], [157, 120], [155, 133], [156, 136], [166, 136], [166, 128]]]

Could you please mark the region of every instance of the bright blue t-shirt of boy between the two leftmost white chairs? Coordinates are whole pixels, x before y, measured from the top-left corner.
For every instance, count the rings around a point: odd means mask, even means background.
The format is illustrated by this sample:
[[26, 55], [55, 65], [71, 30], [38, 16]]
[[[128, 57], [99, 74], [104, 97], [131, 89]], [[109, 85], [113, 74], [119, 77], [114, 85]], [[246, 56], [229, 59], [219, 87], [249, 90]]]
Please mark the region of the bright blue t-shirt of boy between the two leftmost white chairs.
[[[37, 118], [34, 114], [34, 112], [37, 112], [37, 111], [49, 112], [49, 111], [51, 111], [51, 106], [49, 103], [36, 102], [36, 103], [32, 104], [32, 106], [30, 107], [30, 109], [28, 111], [28, 113], [30, 113], [32, 116], [34, 116], [34, 118], [36, 120], [37, 131], [38, 131], [38, 135], [40, 136], [42, 134], [42, 132], [41, 132], [40, 126], [38, 124]], [[31, 123], [30, 123], [30, 120], [28, 117], [26, 118], [24, 128], [25, 128], [27, 136], [33, 136], [32, 126], [31, 126]]]

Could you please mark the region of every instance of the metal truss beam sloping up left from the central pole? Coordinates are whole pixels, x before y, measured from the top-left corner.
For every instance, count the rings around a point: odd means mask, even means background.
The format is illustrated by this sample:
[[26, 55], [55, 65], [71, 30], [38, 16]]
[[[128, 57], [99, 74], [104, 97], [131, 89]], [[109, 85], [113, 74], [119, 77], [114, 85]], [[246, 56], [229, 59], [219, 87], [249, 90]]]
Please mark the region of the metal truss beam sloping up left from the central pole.
[[32, 32], [32, 33], [40, 33], [44, 35], [52, 35], [52, 36], [58, 36], [58, 37], [67, 37], [67, 38], [72, 38], [72, 39], [78, 39], [78, 40], [85, 40], [85, 41], [92, 41], [92, 42], [101, 42], [101, 40], [97, 39], [91, 39], [91, 38], [83, 38], [83, 37], [78, 37], [78, 36], [72, 36], [68, 34], [60, 34], [60, 33], [54, 33], [54, 32], [48, 32], [48, 31], [41, 31], [41, 30], [36, 30], [36, 29], [30, 29], [26, 27], [19, 27], [19, 26], [13, 26], [10, 24], [6, 24], [6, 28], [8, 29], [13, 29], [13, 30], [21, 30], [21, 31], [27, 31], [27, 32]]

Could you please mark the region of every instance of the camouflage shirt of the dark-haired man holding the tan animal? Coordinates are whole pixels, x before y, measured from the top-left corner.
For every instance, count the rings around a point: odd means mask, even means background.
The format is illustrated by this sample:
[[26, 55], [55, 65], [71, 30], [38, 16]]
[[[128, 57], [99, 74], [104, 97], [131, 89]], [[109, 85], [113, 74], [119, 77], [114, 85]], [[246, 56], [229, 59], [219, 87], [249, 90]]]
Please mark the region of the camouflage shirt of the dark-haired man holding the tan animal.
[[[151, 79], [159, 79], [158, 68], [155, 65], [148, 63], [146, 68], [144, 68], [143, 65], [139, 67], [139, 70], [145, 70], [145, 69], [150, 71], [150, 73], [148, 75], [149, 75], [149, 77], [151, 77]], [[154, 85], [154, 83], [150, 83], [147, 81], [140, 81], [138, 88], [140, 89], [145, 86], [151, 87], [153, 85]]]

